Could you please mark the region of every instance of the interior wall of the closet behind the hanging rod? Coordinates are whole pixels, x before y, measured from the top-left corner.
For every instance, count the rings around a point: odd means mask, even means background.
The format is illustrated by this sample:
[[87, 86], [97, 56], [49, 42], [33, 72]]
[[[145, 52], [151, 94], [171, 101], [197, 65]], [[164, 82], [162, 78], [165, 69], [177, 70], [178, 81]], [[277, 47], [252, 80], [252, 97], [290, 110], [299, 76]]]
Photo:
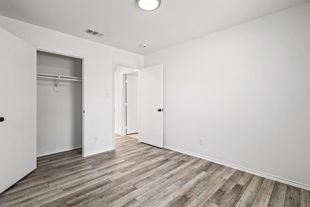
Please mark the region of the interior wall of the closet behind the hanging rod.
[[[82, 77], [82, 59], [37, 51], [37, 73]], [[82, 147], [82, 81], [37, 78], [37, 156]]]

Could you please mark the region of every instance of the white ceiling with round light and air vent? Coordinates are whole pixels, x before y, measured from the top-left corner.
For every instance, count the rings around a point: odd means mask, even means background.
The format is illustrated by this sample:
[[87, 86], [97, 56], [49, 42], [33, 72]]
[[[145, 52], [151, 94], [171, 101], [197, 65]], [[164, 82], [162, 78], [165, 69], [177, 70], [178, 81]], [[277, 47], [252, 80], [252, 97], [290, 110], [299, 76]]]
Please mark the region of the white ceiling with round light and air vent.
[[307, 1], [161, 0], [145, 12], [136, 0], [0, 0], [0, 15], [145, 55]]

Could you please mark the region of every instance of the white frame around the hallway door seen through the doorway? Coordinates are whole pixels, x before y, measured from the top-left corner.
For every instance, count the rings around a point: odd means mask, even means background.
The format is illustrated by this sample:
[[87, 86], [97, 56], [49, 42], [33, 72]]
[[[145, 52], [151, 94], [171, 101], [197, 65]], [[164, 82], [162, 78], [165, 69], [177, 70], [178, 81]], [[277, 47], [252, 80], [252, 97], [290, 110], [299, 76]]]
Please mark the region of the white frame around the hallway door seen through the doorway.
[[[122, 96], [122, 135], [127, 135], [127, 129], [126, 129], [126, 124], [127, 124], [127, 108], [126, 108], [126, 99], [127, 99], [127, 85], [126, 85], [126, 78], [127, 75], [138, 73], [138, 79], [139, 79], [139, 72], [140, 70], [135, 69], [135, 71], [131, 71], [128, 73], [123, 74], [123, 96]], [[138, 85], [139, 85], [139, 80], [138, 80]], [[138, 126], [139, 126], [139, 86], [138, 86]], [[139, 128], [138, 128], [138, 133], [139, 133]]]

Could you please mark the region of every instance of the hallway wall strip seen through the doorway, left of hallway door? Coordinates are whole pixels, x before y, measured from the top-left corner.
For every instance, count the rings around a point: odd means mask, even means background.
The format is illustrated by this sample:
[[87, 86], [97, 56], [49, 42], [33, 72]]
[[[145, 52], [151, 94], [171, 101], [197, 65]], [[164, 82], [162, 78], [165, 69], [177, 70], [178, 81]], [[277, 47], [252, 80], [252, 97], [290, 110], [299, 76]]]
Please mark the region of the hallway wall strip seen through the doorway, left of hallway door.
[[122, 131], [122, 103], [123, 103], [123, 76], [125, 73], [133, 72], [135, 69], [125, 67], [122, 65], [115, 65], [115, 133], [125, 135], [125, 131]]

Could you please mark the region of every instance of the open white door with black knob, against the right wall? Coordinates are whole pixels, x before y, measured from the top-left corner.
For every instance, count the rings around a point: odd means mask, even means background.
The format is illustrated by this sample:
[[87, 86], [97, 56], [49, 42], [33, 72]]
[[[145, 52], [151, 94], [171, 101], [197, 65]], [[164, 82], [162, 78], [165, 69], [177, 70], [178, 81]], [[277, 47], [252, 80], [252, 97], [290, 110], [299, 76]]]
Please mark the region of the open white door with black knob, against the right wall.
[[139, 141], [163, 147], [163, 65], [139, 72]]

